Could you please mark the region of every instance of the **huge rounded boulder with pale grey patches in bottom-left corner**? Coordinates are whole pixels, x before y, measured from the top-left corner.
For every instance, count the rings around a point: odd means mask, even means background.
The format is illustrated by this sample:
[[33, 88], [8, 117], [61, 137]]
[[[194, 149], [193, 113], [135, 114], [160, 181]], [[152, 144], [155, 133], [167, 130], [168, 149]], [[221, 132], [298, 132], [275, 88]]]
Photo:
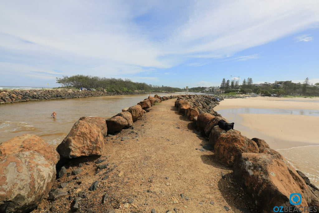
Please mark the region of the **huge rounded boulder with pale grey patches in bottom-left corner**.
[[36, 135], [0, 144], [0, 212], [30, 212], [56, 179], [56, 150]]

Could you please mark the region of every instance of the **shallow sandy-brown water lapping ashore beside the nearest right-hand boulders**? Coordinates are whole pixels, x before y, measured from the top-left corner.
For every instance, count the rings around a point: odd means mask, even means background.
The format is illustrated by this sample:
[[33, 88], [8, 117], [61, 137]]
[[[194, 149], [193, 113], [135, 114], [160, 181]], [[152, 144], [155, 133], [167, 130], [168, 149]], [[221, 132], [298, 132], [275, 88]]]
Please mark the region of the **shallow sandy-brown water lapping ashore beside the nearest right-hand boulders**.
[[293, 147], [278, 149], [288, 162], [296, 169], [302, 171], [315, 186], [319, 187], [319, 146]]

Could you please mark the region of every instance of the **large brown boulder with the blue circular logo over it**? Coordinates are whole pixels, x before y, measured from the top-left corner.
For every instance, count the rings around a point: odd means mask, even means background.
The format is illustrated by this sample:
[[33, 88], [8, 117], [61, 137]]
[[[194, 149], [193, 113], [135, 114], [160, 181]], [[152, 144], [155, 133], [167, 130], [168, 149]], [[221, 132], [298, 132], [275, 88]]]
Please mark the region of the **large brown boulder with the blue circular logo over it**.
[[[304, 212], [304, 207], [318, 203], [297, 171], [276, 155], [242, 153], [233, 170], [235, 178], [255, 200], [260, 212], [273, 212], [275, 206], [302, 209]], [[302, 196], [301, 202], [291, 205], [290, 196], [296, 193]], [[295, 201], [300, 200], [297, 198]]]

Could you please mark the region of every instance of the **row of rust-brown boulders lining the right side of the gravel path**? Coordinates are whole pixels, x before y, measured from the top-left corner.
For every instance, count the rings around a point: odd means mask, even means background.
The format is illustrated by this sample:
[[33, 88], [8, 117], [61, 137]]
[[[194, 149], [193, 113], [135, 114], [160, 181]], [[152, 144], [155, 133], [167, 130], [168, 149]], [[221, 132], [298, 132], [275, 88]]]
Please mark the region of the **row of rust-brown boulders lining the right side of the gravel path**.
[[[218, 104], [216, 99], [213, 96], [179, 96], [175, 107], [208, 139], [214, 158], [233, 169], [236, 181], [255, 201], [260, 212], [317, 212], [319, 189], [263, 139], [249, 139], [232, 129], [232, 125], [219, 123], [228, 121], [211, 109]], [[211, 104], [207, 104], [209, 101]]]

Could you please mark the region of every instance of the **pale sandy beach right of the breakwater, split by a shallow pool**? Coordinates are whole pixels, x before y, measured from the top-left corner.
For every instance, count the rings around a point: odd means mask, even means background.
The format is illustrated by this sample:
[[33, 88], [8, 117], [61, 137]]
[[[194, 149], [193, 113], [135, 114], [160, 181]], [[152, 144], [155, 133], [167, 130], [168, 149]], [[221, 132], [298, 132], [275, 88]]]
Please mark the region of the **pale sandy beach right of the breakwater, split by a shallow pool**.
[[[319, 98], [253, 97], [225, 99], [214, 110], [236, 108], [318, 110]], [[223, 116], [222, 113], [221, 115]], [[235, 126], [241, 127], [240, 130], [244, 135], [263, 138], [271, 148], [319, 145], [318, 116], [268, 113], [240, 113], [237, 116], [240, 116], [241, 124], [235, 124]], [[233, 121], [230, 120], [229, 122]]]

